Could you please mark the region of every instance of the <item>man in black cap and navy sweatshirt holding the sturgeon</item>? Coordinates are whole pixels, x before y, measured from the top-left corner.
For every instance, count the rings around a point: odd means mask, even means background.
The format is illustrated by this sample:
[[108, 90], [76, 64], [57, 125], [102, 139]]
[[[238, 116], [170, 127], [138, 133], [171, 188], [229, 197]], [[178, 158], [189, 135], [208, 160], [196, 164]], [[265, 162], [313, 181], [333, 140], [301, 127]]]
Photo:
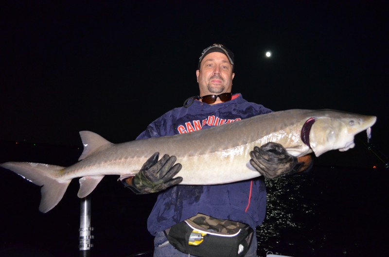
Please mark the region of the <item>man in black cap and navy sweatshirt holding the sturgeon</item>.
[[[233, 69], [234, 56], [226, 47], [213, 44], [205, 49], [196, 70], [199, 96], [189, 98], [183, 107], [175, 108], [153, 121], [137, 139], [188, 133], [271, 112], [263, 105], [248, 103], [240, 94], [231, 94], [235, 76]], [[207, 142], [204, 142], [204, 147], [206, 144]], [[274, 143], [269, 144], [266, 149], [256, 147], [250, 156], [251, 165], [269, 178], [303, 171], [311, 164], [309, 155], [297, 159], [287, 154], [281, 145]], [[269, 156], [271, 158], [268, 158]], [[227, 185], [177, 185], [182, 179], [172, 179], [181, 169], [180, 164], [174, 165], [175, 156], [165, 154], [159, 161], [158, 158], [158, 153], [154, 154], [137, 176], [125, 180], [125, 185], [136, 193], [161, 191], [147, 222], [148, 230], [156, 237], [154, 256], [188, 256], [186, 250], [185, 253], [180, 252], [177, 250], [179, 245], [173, 246], [169, 242], [174, 241], [170, 232], [176, 231], [177, 234], [178, 226], [182, 228], [191, 221], [196, 223], [196, 220], [202, 219], [206, 225], [210, 225], [216, 219], [217, 224], [222, 224], [221, 226], [233, 223], [239, 228], [251, 228], [252, 230], [248, 230], [248, 235], [251, 233], [248, 244], [244, 244], [247, 248], [244, 249], [244, 256], [256, 257], [255, 227], [264, 221], [266, 210], [264, 176]], [[278, 159], [290, 164], [288, 168], [283, 166], [283, 169], [278, 169], [274, 162]], [[203, 165], [207, 164], [199, 163], [198, 169]], [[159, 175], [156, 175], [157, 173]], [[197, 243], [201, 245], [201, 240]], [[224, 248], [218, 247], [211, 248], [220, 251]], [[240, 254], [239, 256], [243, 256]], [[220, 255], [216, 253], [214, 256]]]

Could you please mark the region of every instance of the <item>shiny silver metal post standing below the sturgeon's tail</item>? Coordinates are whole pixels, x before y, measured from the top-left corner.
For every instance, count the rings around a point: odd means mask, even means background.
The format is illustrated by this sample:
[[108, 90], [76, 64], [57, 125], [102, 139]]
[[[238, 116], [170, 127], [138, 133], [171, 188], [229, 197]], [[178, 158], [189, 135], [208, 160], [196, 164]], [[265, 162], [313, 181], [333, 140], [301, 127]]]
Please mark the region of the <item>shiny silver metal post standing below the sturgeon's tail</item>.
[[94, 237], [90, 235], [93, 227], [90, 226], [90, 196], [81, 198], [81, 212], [80, 212], [80, 237], [79, 245], [80, 257], [89, 257], [90, 248], [93, 244], [90, 240]]

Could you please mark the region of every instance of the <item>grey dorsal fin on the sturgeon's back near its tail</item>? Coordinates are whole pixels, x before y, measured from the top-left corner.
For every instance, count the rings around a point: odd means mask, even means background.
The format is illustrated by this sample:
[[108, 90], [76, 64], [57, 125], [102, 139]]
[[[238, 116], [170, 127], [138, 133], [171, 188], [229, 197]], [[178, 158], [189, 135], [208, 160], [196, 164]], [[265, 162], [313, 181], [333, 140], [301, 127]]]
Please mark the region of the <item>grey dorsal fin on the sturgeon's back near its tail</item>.
[[84, 151], [82, 152], [80, 158], [78, 158], [79, 161], [85, 159], [93, 153], [113, 145], [113, 143], [91, 131], [80, 131], [80, 136], [82, 144], [84, 145]]

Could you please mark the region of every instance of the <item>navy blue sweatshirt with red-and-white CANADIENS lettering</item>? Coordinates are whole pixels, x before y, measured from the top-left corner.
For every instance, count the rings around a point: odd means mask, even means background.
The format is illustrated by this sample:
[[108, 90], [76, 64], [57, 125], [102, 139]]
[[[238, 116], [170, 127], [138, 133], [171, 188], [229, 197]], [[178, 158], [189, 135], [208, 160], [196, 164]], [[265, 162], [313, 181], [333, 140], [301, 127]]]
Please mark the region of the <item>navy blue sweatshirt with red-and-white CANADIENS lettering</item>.
[[[269, 112], [271, 110], [263, 105], [247, 102], [240, 94], [233, 95], [231, 101], [213, 105], [195, 100], [187, 108], [175, 108], [154, 120], [137, 139], [190, 133]], [[204, 142], [206, 146], [207, 142]], [[199, 163], [198, 169], [203, 165], [207, 164]], [[226, 185], [177, 185], [159, 193], [147, 227], [155, 235], [203, 213], [217, 219], [246, 223], [255, 230], [264, 221], [265, 212], [266, 190], [262, 176]]]

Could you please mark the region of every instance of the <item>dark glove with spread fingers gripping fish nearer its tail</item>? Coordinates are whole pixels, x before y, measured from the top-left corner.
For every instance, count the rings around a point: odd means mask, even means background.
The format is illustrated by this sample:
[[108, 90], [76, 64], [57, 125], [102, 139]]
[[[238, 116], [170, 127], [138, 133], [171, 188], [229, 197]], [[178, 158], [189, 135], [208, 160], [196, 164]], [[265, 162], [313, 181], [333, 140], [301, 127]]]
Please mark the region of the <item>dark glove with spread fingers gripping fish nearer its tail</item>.
[[[172, 179], [181, 170], [181, 164], [176, 162], [176, 156], [165, 154], [158, 160], [159, 153], [153, 154], [142, 166], [141, 170], [132, 179], [129, 187], [137, 194], [155, 193], [181, 183], [182, 177]], [[173, 166], [174, 165], [174, 166]]]

